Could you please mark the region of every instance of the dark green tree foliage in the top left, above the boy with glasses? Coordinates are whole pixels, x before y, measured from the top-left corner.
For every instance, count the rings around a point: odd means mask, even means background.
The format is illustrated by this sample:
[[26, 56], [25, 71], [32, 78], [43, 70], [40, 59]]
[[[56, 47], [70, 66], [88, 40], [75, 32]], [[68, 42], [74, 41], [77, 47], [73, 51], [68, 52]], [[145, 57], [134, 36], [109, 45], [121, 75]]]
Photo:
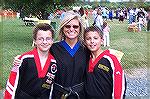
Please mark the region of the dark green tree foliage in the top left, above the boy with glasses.
[[67, 6], [76, 0], [5, 0], [2, 2], [3, 9], [11, 8], [14, 11], [20, 11], [23, 16], [32, 14], [40, 19], [45, 19], [49, 12], [59, 9], [58, 5]]

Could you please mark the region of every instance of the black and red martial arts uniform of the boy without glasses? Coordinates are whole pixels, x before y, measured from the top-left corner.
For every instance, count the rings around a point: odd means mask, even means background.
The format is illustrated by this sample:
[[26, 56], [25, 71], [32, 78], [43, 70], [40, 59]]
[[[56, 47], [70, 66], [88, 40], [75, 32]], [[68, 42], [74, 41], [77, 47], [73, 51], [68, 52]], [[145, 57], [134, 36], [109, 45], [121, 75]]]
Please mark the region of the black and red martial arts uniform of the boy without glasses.
[[123, 99], [125, 77], [118, 59], [105, 50], [94, 61], [89, 61], [85, 84], [87, 99]]

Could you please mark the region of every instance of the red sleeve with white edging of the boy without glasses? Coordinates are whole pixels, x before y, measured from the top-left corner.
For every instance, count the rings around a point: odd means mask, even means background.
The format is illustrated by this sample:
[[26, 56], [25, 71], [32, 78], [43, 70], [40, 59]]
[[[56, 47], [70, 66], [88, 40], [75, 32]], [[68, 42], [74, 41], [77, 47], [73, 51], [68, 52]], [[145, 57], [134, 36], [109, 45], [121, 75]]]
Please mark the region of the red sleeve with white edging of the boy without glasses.
[[118, 59], [110, 55], [113, 62], [113, 97], [114, 99], [123, 99], [125, 96], [126, 82], [124, 71]]

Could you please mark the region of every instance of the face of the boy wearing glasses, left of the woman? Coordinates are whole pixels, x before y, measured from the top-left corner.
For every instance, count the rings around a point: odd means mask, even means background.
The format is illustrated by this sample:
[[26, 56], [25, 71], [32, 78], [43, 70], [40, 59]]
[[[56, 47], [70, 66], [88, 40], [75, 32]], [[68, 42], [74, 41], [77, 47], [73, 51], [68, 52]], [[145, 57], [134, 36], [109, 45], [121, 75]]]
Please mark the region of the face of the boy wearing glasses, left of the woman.
[[53, 44], [53, 38], [51, 31], [39, 30], [37, 32], [36, 40], [34, 41], [37, 47], [37, 50], [41, 52], [49, 51], [50, 47]]

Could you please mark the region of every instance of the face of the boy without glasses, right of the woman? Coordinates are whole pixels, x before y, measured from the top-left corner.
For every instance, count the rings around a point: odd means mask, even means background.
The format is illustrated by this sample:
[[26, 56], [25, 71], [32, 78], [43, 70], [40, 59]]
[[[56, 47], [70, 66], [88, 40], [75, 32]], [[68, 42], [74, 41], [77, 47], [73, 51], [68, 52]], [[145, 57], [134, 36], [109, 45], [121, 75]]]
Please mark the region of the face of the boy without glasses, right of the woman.
[[85, 44], [91, 52], [100, 50], [102, 39], [96, 31], [90, 31], [85, 35]]

